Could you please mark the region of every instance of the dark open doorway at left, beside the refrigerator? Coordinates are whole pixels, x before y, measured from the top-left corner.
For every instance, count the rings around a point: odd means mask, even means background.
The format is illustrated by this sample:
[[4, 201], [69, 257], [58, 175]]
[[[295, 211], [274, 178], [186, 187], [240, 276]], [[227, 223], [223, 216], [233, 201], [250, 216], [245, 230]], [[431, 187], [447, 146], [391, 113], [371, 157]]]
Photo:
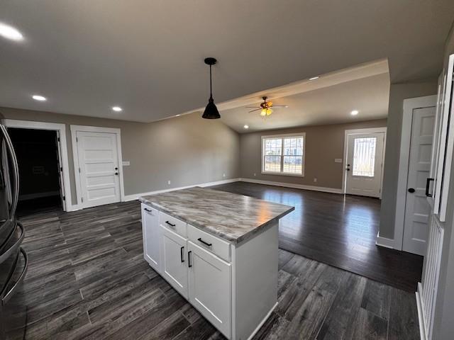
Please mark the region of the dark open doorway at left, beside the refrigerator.
[[59, 136], [55, 130], [8, 128], [19, 167], [18, 215], [63, 210]]

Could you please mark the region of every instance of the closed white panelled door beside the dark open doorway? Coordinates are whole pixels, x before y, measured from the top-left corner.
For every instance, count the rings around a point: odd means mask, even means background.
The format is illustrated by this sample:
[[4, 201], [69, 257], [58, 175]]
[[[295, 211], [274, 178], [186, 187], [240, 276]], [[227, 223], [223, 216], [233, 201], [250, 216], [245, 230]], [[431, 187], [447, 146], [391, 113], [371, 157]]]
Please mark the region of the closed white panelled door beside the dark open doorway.
[[82, 206], [116, 203], [121, 200], [118, 145], [111, 132], [77, 131], [77, 156]]

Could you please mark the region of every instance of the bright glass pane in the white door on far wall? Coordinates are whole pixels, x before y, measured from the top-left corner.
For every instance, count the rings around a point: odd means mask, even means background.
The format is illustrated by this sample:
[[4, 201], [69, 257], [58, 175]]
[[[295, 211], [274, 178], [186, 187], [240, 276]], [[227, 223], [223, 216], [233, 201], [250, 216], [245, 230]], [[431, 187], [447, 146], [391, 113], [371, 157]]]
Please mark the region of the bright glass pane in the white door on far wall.
[[355, 138], [353, 147], [353, 176], [375, 176], [377, 137]]

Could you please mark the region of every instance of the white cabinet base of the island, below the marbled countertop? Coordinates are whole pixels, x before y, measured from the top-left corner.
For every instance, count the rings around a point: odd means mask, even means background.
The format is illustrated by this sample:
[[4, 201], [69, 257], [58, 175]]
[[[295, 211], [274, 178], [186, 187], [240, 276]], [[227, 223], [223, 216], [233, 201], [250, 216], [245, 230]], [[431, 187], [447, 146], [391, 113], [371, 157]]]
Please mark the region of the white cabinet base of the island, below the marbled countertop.
[[228, 339], [252, 338], [277, 305], [279, 223], [231, 244], [145, 204], [142, 221], [145, 260]]

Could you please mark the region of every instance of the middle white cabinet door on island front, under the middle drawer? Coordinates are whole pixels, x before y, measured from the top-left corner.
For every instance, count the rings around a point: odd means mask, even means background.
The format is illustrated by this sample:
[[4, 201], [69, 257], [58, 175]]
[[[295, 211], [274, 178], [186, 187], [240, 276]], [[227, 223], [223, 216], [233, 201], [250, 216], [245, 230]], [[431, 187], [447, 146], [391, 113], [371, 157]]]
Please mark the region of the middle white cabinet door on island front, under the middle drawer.
[[162, 276], [187, 298], [186, 239], [162, 227]]

